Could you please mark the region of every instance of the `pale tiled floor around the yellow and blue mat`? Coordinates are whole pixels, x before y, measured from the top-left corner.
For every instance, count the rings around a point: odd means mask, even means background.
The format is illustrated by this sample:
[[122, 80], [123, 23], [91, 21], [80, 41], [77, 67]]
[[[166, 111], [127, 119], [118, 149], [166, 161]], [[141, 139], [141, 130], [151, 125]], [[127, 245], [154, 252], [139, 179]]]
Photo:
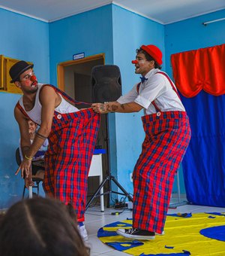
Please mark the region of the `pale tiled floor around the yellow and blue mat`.
[[[132, 212], [125, 210], [120, 215], [111, 215], [111, 212], [121, 212], [115, 209], [105, 209], [105, 212], [101, 212], [100, 206], [89, 208], [86, 212], [86, 229], [89, 233], [89, 240], [86, 245], [91, 248], [91, 256], [104, 255], [104, 256], [122, 256], [130, 255], [124, 252], [116, 251], [108, 245], [101, 242], [97, 233], [99, 228], [104, 227], [106, 224], [113, 223], [115, 221], [123, 221], [126, 218], [132, 218]], [[169, 209], [169, 213], [185, 213], [185, 212], [225, 212], [225, 208], [208, 207], [208, 206], [193, 206], [184, 205], [178, 206], [176, 209]]]

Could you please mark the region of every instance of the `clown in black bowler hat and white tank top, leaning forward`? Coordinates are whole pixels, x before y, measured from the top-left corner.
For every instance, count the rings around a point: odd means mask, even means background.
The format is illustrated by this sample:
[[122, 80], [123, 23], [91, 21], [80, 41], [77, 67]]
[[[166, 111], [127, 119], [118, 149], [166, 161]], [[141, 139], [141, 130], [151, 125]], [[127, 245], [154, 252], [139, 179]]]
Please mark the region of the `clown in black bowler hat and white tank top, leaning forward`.
[[[28, 181], [26, 184], [32, 184], [31, 160], [48, 139], [49, 147], [44, 156], [43, 189], [47, 196], [74, 207], [80, 234], [83, 239], [88, 239], [83, 221], [89, 168], [100, 116], [92, 108], [80, 111], [74, 106], [80, 102], [71, 99], [58, 88], [50, 84], [38, 84], [32, 64], [22, 60], [14, 64], [9, 73], [11, 82], [23, 92], [14, 109], [23, 151], [23, 161], [16, 174], [21, 170], [22, 177]], [[71, 102], [75, 104], [72, 105]], [[28, 119], [40, 126], [32, 144], [28, 133]]]

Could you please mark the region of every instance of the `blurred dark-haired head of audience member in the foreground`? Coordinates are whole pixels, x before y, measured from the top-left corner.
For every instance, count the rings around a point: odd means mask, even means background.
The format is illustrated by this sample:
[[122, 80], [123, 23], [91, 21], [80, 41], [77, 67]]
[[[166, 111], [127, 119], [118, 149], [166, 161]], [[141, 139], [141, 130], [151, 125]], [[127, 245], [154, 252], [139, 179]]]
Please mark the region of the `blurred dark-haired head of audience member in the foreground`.
[[14, 204], [0, 219], [1, 256], [88, 256], [71, 207], [36, 197]]

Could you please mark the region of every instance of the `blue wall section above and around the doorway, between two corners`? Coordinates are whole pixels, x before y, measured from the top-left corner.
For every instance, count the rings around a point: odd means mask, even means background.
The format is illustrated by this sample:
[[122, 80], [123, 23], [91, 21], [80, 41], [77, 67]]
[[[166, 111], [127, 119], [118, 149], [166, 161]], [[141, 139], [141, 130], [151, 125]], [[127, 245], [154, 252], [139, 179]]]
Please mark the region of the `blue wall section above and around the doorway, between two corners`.
[[92, 56], [105, 53], [113, 63], [112, 5], [77, 14], [49, 24], [50, 80], [57, 84], [57, 65], [74, 53]]

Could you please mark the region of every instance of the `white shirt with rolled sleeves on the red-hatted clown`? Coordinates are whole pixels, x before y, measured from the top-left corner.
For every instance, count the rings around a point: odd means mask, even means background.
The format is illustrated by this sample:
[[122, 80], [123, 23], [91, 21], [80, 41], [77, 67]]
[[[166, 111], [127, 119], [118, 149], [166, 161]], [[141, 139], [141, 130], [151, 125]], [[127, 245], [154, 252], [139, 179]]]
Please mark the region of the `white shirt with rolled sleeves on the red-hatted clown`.
[[[155, 102], [160, 111], [185, 111], [177, 93], [173, 90], [168, 78], [162, 75], [159, 69], [151, 69], [145, 75], [145, 80], [139, 85], [139, 93], [136, 90], [137, 84], [124, 96], [117, 99], [120, 104], [136, 102], [145, 108], [145, 114], [154, 114], [156, 109], [151, 102]], [[174, 85], [175, 87], [175, 85]], [[176, 88], [175, 88], [176, 89]]]

